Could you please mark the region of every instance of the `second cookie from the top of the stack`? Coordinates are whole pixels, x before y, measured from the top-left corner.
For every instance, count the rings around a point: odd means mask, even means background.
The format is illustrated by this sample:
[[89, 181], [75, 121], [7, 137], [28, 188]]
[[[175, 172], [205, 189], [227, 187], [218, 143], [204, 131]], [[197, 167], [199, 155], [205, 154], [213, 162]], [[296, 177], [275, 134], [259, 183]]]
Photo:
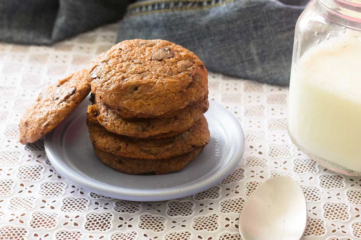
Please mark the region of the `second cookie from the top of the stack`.
[[208, 100], [183, 108], [173, 117], [123, 118], [103, 103], [96, 102], [88, 107], [92, 122], [99, 122], [109, 132], [135, 138], [173, 137], [186, 131], [208, 110]]

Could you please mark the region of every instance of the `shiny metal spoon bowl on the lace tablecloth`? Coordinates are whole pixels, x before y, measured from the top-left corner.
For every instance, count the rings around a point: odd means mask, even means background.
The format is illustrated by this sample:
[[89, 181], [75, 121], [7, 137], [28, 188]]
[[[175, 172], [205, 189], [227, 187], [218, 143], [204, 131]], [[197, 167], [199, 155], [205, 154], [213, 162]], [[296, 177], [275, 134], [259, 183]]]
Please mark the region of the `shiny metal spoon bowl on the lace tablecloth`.
[[300, 240], [307, 221], [306, 199], [289, 177], [272, 177], [251, 194], [239, 216], [243, 240]]

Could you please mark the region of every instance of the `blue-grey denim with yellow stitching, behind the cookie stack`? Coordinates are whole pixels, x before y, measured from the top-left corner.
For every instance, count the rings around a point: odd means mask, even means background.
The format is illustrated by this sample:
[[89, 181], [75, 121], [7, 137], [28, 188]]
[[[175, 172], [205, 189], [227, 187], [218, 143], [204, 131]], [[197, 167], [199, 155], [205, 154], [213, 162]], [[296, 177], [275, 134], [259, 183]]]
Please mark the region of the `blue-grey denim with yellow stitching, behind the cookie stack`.
[[210, 71], [288, 84], [295, 24], [306, 1], [301, 6], [272, 0], [183, 2], [130, 5], [118, 40], [169, 40], [197, 54]]

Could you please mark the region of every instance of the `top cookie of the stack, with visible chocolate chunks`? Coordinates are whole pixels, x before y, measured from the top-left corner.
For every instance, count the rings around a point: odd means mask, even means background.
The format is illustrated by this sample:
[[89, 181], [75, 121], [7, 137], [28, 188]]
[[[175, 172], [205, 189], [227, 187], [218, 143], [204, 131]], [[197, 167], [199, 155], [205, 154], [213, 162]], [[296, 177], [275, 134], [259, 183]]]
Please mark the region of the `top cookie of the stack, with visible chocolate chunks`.
[[165, 40], [126, 40], [93, 60], [92, 93], [122, 117], [156, 117], [208, 98], [208, 74], [191, 51]]

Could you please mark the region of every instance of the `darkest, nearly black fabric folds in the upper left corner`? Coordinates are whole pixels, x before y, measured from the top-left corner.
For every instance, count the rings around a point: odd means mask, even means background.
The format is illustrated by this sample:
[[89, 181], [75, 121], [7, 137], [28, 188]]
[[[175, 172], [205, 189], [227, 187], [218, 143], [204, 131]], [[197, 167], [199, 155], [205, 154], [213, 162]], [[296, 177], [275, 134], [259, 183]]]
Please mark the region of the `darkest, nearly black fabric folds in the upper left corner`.
[[0, 41], [49, 45], [120, 19], [127, 0], [0, 0]]

